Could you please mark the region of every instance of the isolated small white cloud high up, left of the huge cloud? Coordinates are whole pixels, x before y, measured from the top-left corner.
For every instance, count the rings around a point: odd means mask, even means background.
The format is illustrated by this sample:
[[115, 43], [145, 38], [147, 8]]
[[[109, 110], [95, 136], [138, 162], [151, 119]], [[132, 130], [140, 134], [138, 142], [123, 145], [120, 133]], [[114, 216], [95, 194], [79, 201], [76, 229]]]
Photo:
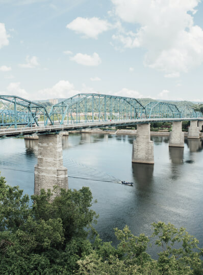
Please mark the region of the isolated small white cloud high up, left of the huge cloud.
[[97, 39], [98, 35], [108, 31], [112, 25], [106, 20], [101, 20], [97, 17], [83, 18], [77, 17], [72, 22], [66, 25], [66, 28], [76, 33], [83, 34], [84, 37]]

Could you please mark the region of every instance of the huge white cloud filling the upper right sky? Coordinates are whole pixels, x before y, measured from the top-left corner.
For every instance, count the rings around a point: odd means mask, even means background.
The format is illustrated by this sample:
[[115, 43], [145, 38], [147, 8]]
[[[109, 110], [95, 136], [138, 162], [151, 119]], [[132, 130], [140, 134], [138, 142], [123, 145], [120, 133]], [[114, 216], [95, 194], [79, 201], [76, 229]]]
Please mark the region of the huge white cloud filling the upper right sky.
[[203, 62], [203, 31], [193, 21], [200, 0], [111, 1], [115, 16], [134, 24], [135, 29], [118, 32], [114, 41], [125, 48], [146, 48], [146, 66], [172, 75]]

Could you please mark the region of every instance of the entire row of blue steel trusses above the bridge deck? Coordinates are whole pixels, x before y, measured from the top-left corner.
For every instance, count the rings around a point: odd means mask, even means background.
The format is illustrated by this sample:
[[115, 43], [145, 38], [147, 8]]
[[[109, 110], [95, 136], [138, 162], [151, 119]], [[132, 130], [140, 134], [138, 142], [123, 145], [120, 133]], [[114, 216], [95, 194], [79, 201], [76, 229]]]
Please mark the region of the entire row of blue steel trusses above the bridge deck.
[[[150, 102], [145, 107], [135, 98], [96, 93], [77, 94], [54, 105], [47, 113], [38, 103], [17, 97], [0, 95], [0, 127], [25, 127], [52, 124], [72, 124], [95, 121], [125, 121], [154, 118], [203, 118], [191, 107], [166, 102]], [[123, 122], [124, 123], [124, 122]]]

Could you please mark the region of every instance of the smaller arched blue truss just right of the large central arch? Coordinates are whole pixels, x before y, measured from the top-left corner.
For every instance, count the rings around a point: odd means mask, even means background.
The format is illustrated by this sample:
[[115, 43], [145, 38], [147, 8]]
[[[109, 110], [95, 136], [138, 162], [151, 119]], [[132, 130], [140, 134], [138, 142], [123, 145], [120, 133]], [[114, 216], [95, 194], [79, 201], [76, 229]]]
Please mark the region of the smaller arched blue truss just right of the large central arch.
[[147, 118], [180, 118], [179, 109], [175, 104], [166, 102], [149, 102], [146, 106]]

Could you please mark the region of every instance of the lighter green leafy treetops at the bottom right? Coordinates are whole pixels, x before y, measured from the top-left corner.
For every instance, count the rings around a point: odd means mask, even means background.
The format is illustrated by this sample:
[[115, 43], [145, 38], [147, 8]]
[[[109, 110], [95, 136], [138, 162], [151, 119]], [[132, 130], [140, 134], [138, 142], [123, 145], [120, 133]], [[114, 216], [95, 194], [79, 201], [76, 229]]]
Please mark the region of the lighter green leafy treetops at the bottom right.
[[[198, 240], [184, 228], [176, 229], [170, 223], [153, 224], [154, 233], [148, 238], [144, 234], [134, 236], [127, 226], [123, 230], [115, 229], [120, 241], [117, 249], [111, 243], [96, 240], [96, 249], [78, 261], [78, 274], [167, 274], [186, 275], [203, 273], [202, 250]], [[158, 260], [153, 260], [146, 252], [149, 241], [155, 239], [155, 245], [161, 247]], [[105, 257], [101, 253], [105, 246]], [[107, 249], [108, 248], [108, 249]]]

